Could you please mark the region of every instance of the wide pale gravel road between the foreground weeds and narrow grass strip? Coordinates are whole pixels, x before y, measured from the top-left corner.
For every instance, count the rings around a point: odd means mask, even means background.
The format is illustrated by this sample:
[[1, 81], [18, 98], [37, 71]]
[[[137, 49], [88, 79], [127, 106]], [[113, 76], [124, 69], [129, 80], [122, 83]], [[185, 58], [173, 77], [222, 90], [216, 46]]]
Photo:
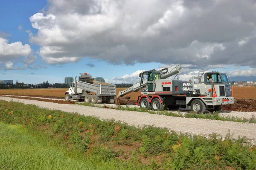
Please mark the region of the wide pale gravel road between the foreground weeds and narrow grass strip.
[[37, 105], [42, 108], [61, 110], [66, 112], [77, 112], [85, 116], [97, 116], [100, 119], [115, 119], [127, 122], [129, 125], [154, 125], [156, 127], [166, 127], [175, 130], [177, 133], [192, 133], [208, 135], [217, 133], [225, 136], [228, 131], [233, 133], [234, 138], [246, 136], [256, 142], [256, 124], [239, 123], [228, 121], [217, 121], [207, 119], [180, 118], [165, 115], [149, 114], [134, 111], [120, 111], [105, 108], [95, 108], [81, 105], [56, 104], [52, 102], [41, 102], [35, 100], [15, 99], [10, 97], [0, 97], [0, 100], [19, 101], [24, 104]]

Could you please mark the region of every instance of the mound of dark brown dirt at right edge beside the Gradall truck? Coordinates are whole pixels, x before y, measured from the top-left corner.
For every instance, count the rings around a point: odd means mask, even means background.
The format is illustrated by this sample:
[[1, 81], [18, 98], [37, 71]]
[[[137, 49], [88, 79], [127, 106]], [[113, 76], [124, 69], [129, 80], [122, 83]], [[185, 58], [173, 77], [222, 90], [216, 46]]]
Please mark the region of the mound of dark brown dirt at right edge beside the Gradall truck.
[[222, 111], [256, 111], [256, 99], [235, 99], [230, 108], [222, 106]]

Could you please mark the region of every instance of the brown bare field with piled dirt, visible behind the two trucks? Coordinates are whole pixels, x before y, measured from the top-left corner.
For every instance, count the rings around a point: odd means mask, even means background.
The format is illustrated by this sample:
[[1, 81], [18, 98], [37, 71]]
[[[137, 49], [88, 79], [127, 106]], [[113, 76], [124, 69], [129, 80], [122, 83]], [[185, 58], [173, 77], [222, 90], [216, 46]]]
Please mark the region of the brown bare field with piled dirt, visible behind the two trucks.
[[[116, 94], [125, 88], [116, 88]], [[19, 96], [21, 99], [34, 99], [45, 102], [55, 102], [62, 104], [75, 104], [75, 102], [56, 100], [64, 99], [64, 94], [67, 88], [53, 88], [53, 89], [0, 89], [1, 95]], [[128, 103], [129, 106], [135, 105], [137, 97], [140, 95], [140, 91], [133, 92], [126, 96], [130, 96], [131, 99]], [[256, 87], [234, 87], [233, 96], [235, 98], [234, 105], [231, 107], [222, 107], [223, 111], [256, 111]], [[32, 98], [34, 97], [34, 98]], [[35, 98], [39, 97], [39, 98]], [[44, 98], [44, 99], [40, 99]], [[135, 105], [136, 106], [136, 105]]]

